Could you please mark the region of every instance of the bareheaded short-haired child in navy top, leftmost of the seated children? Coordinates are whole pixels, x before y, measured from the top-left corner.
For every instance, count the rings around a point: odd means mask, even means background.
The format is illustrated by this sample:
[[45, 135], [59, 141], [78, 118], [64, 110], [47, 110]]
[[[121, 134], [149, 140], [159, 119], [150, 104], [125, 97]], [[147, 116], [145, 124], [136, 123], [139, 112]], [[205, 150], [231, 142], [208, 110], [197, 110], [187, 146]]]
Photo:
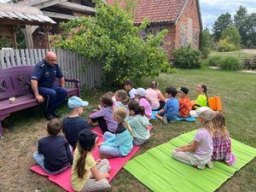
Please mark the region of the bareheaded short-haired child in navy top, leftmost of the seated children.
[[48, 174], [57, 174], [67, 169], [68, 164], [73, 164], [67, 140], [58, 136], [62, 123], [58, 119], [51, 119], [47, 125], [48, 137], [38, 140], [38, 151], [33, 154], [33, 159]]

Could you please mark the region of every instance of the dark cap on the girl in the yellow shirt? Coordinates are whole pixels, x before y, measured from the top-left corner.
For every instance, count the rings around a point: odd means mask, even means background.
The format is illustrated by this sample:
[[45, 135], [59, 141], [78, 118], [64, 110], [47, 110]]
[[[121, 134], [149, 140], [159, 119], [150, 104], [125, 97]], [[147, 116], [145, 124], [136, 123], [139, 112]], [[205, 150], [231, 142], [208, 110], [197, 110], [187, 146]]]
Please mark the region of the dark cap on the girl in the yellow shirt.
[[84, 129], [79, 132], [79, 145], [84, 149], [91, 149], [95, 145], [97, 134]]

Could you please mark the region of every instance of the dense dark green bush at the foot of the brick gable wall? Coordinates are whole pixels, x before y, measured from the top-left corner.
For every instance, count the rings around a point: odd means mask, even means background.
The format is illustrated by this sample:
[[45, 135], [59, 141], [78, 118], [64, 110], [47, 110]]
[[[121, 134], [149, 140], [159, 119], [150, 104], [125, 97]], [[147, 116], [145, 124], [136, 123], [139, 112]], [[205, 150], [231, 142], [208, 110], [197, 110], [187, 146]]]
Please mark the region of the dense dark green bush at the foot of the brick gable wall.
[[191, 49], [191, 47], [175, 49], [172, 51], [173, 64], [177, 68], [199, 68], [200, 51]]

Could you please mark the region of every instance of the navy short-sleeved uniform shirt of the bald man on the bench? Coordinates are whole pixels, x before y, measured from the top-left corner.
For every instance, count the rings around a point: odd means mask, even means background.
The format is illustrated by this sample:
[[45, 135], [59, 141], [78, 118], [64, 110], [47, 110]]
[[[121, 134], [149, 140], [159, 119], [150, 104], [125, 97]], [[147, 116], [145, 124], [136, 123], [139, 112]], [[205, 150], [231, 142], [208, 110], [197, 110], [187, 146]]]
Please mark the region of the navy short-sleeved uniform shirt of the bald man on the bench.
[[45, 60], [39, 61], [32, 73], [32, 80], [38, 81], [38, 87], [52, 88], [55, 78], [61, 79], [63, 74], [58, 65], [51, 67]]

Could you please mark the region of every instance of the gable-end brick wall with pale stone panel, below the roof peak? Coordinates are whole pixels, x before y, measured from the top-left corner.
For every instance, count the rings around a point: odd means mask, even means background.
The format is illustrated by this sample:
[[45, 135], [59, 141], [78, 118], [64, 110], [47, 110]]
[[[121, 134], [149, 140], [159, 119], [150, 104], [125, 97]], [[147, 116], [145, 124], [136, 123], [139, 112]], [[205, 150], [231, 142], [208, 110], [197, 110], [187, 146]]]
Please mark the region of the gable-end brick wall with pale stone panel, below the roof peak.
[[189, 0], [177, 22], [176, 48], [191, 44], [192, 48], [199, 49], [201, 25], [197, 2], [197, 0]]

